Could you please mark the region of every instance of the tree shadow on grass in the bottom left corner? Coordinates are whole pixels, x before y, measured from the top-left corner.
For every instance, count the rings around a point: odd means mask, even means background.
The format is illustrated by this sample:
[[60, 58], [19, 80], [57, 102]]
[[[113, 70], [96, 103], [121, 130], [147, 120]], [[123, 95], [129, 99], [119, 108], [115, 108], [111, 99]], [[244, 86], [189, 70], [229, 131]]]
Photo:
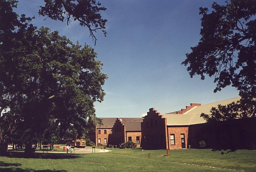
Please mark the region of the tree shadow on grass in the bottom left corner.
[[[67, 172], [66, 170], [33, 170], [33, 169], [21, 169], [17, 168], [17, 166], [21, 166], [21, 164], [17, 163], [5, 163], [3, 161], [0, 161], [0, 171], [1, 172]], [[7, 167], [7, 168], [3, 168]]]

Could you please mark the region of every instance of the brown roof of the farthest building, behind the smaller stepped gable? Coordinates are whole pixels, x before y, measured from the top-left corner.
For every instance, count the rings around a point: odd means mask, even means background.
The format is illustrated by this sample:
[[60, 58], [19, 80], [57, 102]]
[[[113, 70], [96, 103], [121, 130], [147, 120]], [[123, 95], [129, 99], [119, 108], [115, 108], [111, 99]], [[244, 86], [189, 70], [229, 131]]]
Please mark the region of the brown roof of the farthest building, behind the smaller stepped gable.
[[[116, 118], [100, 118], [102, 119], [102, 126], [98, 128], [112, 128], [116, 122]], [[121, 118], [123, 122], [142, 122], [143, 118]]]

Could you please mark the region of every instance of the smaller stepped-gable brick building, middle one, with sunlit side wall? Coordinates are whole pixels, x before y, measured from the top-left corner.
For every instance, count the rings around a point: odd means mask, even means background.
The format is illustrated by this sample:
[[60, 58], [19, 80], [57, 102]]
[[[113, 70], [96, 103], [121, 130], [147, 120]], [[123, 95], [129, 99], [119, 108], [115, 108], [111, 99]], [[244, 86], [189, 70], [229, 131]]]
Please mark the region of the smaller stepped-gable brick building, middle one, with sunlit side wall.
[[131, 122], [123, 122], [123, 118], [116, 118], [109, 143], [112, 145], [120, 145], [127, 141], [133, 141], [137, 143], [137, 147], [140, 147], [141, 121], [142, 118]]

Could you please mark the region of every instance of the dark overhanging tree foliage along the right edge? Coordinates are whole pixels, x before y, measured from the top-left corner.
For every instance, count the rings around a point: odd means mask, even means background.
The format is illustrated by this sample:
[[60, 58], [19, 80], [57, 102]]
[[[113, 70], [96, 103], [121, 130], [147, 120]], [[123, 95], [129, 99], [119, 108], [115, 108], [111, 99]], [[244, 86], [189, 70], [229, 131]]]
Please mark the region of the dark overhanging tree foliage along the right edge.
[[227, 0], [226, 3], [224, 6], [213, 3], [212, 12], [200, 8], [202, 37], [182, 64], [188, 66], [191, 77], [213, 76], [217, 83], [214, 92], [228, 85], [239, 90], [241, 100], [237, 105], [228, 106], [241, 115], [230, 114], [226, 118], [255, 117], [256, 3], [253, 0]]

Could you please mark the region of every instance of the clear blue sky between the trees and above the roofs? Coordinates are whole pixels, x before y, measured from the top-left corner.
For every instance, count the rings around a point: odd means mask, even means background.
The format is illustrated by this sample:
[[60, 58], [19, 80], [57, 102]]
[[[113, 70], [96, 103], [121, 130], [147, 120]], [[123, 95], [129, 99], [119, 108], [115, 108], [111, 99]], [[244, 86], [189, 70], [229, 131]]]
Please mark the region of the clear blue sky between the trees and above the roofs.
[[[215, 0], [216, 1], [216, 0]], [[106, 96], [95, 103], [98, 117], [141, 117], [154, 107], [160, 113], [180, 110], [190, 103], [207, 104], [238, 97], [227, 87], [213, 93], [213, 78], [192, 79], [181, 62], [200, 39], [199, 7], [212, 0], [100, 0], [107, 8], [107, 37], [97, 32], [97, 44], [79, 23], [61, 23], [39, 16], [43, 0], [20, 0], [15, 11], [35, 16], [38, 27], [58, 30], [73, 42], [92, 46], [104, 63]], [[217, 1], [224, 4], [223, 1]]]

